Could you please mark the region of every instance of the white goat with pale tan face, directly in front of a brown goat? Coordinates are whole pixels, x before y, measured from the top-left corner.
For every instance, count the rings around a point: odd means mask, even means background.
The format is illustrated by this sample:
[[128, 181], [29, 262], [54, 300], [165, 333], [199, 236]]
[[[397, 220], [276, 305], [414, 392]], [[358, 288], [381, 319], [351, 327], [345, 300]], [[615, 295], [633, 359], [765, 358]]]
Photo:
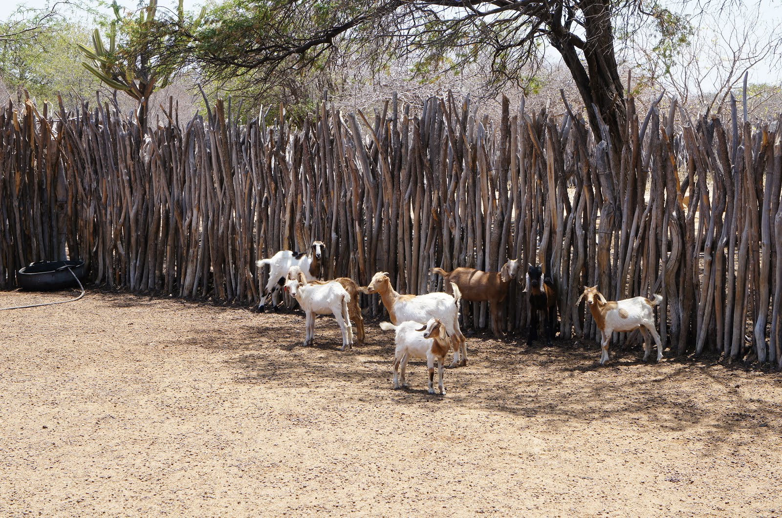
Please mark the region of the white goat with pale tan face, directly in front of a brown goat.
[[343, 334], [342, 350], [353, 348], [353, 329], [350, 327], [347, 305], [350, 302], [350, 294], [345, 291], [338, 282], [325, 284], [307, 284], [307, 278], [303, 272], [299, 272], [298, 279], [290, 279], [285, 282], [285, 290], [288, 291], [307, 314], [307, 331], [304, 345], [312, 345], [315, 341], [315, 315], [328, 315], [332, 313], [339, 323], [339, 329]]

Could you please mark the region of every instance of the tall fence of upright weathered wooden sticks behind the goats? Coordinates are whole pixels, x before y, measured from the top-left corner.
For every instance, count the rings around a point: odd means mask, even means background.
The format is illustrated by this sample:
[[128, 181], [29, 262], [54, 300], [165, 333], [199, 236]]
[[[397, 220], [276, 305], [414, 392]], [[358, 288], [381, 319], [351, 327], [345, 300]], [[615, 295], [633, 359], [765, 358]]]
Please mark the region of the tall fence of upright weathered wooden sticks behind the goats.
[[[554, 277], [565, 338], [595, 336], [574, 302], [599, 284], [610, 298], [661, 293], [676, 354], [782, 366], [782, 117], [752, 124], [734, 103], [723, 124], [658, 102], [641, 114], [630, 99], [622, 148], [566, 101], [555, 117], [505, 100], [500, 120], [450, 95], [420, 113], [394, 96], [373, 116], [323, 103], [300, 130], [282, 108], [267, 127], [267, 113], [242, 122], [222, 101], [181, 124], [169, 102], [146, 135], [108, 103], [9, 104], [0, 288], [26, 263], [70, 255], [109, 286], [251, 304], [256, 259], [314, 239], [325, 277], [365, 284], [382, 270], [407, 293], [442, 288], [432, 266], [511, 257]], [[511, 333], [528, 322], [523, 295], [511, 288]], [[485, 306], [468, 325], [486, 327]]]

